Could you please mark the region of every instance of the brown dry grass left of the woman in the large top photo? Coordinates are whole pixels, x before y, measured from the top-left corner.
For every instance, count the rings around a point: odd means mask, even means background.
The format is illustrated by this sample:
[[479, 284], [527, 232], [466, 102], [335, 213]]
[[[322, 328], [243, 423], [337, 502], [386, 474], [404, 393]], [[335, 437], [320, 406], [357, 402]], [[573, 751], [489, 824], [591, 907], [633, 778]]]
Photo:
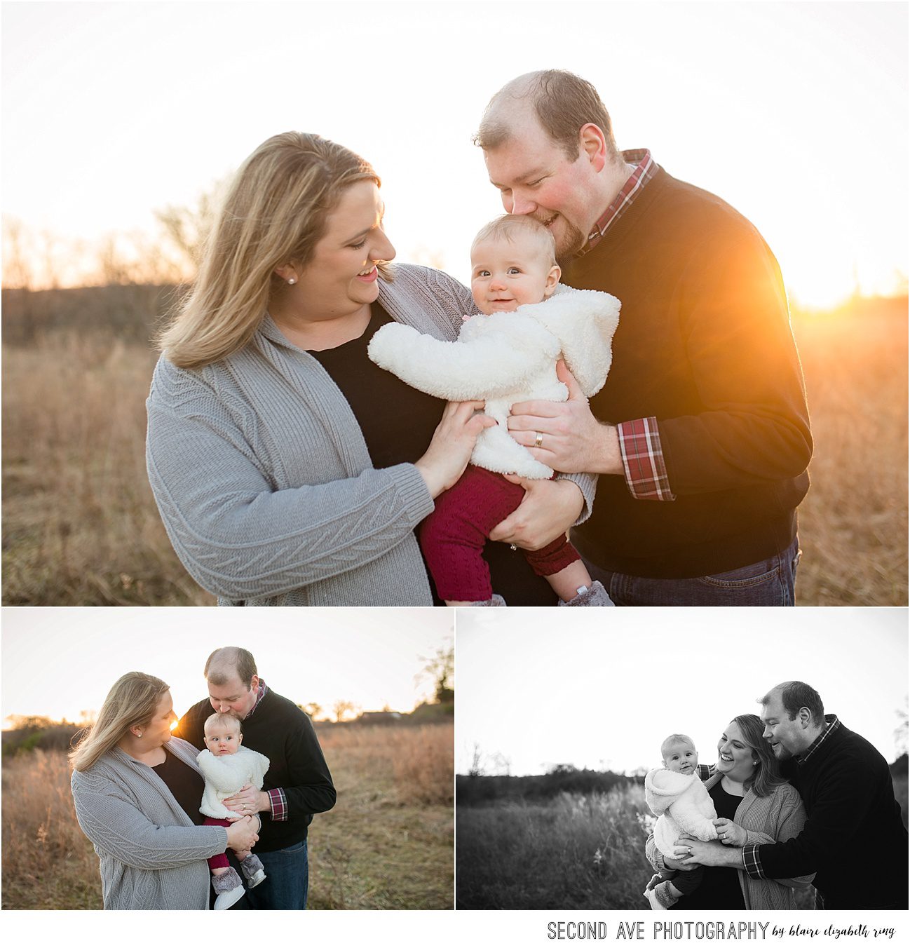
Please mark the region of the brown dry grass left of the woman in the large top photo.
[[3, 353], [4, 604], [211, 605], [145, 472], [155, 355], [98, 336]]

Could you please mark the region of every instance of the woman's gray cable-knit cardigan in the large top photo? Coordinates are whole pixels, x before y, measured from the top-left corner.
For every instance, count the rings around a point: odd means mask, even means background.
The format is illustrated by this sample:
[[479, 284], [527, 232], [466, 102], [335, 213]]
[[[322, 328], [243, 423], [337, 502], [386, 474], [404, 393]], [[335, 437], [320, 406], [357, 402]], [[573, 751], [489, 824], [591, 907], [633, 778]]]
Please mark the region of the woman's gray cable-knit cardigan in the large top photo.
[[[393, 319], [451, 340], [468, 290], [399, 265], [379, 284]], [[240, 352], [202, 369], [159, 359], [147, 461], [177, 556], [223, 606], [428, 606], [414, 527], [433, 509], [411, 464], [376, 470], [319, 360], [265, 317]], [[595, 479], [572, 477], [587, 517]], [[584, 518], [583, 518], [584, 519]]]

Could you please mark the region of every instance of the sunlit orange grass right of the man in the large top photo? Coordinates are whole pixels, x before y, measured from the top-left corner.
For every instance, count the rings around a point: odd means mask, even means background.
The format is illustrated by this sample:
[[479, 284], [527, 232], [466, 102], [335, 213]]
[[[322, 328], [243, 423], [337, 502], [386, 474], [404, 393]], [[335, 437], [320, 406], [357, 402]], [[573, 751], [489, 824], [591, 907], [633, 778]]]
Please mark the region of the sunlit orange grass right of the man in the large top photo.
[[799, 605], [907, 604], [907, 322], [797, 316], [815, 452], [799, 508]]

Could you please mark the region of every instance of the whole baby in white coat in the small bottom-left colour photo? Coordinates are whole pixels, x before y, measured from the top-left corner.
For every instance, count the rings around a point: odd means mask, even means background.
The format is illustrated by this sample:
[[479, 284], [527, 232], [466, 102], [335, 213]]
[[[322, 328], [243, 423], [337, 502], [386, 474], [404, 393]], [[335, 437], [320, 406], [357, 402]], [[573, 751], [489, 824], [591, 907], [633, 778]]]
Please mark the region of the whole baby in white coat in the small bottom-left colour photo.
[[[263, 789], [268, 757], [241, 747], [244, 736], [240, 733], [240, 721], [229, 714], [213, 714], [205, 723], [206, 750], [196, 757], [199, 770], [206, 778], [206, 789], [202, 794], [199, 812], [205, 813], [204, 826], [228, 827], [237, 813], [228, 810], [222, 803], [226, 797], [237, 793], [246, 784], [257, 790]], [[262, 860], [248, 850], [236, 853], [241, 870], [250, 888], [265, 879]], [[209, 857], [211, 885], [217, 893], [216, 909], [230, 908], [243, 898], [244, 885], [236, 870], [228, 863], [225, 853]]]

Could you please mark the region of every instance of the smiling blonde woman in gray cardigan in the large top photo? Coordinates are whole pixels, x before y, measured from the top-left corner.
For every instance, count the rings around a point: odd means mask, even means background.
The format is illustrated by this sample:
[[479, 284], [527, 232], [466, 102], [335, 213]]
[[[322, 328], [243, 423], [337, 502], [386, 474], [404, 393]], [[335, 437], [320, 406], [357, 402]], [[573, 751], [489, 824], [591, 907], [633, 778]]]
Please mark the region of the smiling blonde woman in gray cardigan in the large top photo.
[[[384, 210], [379, 178], [348, 149], [269, 138], [237, 173], [160, 339], [149, 478], [177, 555], [221, 605], [433, 601], [414, 528], [494, 422], [367, 357], [391, 319], [452, 340], [475, 311], [444, 273], [392, 273]], [[536, 482], [494, 538], [537, 549], [591, 498], [584, 475]], [[507, 602], [555, 605], [523, 557], [491, 547]]]

